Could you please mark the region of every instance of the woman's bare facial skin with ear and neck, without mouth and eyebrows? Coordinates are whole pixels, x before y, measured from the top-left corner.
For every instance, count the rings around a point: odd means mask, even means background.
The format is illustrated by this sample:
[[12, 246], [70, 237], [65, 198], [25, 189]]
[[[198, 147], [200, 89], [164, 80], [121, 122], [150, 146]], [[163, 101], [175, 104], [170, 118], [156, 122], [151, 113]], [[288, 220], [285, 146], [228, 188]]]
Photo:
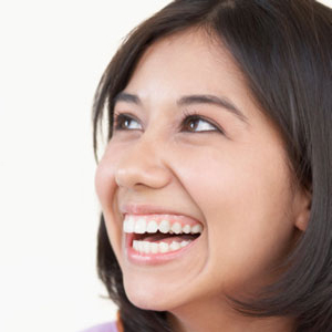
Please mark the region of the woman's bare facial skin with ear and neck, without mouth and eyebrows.
[[[134, 120], [113, 133], [95, 185], [128, 299], [168, 311], [176, 332], [291, 331], [290, 318], [243, 318], [226, 299], [255, 294], [277, 278], [273, 268], [305, 229], [310, 205], [307, 193], [291, 188], [280, 134], [230, 54], [201, 31], [167, 37], [144, 53], [124, 91], [142, 104], [116, 103], [116, 113]], [[225, 97], [247, 120], [217, 105], [177, 105], [190, 94]], [[181, 126], [184, 112], [203, 118]], [[196, 248], [167, 264], [131, 263], [120, 211], [128, 203], [199, 220]]]

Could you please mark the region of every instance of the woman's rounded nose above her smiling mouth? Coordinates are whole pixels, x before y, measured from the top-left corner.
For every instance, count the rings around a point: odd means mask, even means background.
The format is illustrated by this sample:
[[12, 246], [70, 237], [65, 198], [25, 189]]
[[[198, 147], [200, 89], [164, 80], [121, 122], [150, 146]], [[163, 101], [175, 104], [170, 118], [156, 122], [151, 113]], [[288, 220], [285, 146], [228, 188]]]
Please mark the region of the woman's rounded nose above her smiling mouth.
[[115, 169], [115, 181], [120, 187], [149, 187], [159, 189], [167, 186], [172, 172], [165, 159], [165, 146], [142, 136], [139, 141], [125, 148]]

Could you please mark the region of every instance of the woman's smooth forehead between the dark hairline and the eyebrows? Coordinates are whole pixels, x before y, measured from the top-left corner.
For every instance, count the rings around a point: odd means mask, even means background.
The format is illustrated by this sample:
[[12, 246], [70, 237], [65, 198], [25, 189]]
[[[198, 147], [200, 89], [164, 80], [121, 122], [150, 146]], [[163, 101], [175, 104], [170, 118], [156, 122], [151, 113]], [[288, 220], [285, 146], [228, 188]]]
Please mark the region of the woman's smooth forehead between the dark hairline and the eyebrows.
[[139, 104], [151, 110], [176, 110], [174, 106], [186, 95], [212, 95], [240, 110], [237, 113], [242, 118], [257, 113], [231, 54], [220, 39], [201, 29], [178, 32], [153, 43], [138, 61], [124, 92], [137, 96]]

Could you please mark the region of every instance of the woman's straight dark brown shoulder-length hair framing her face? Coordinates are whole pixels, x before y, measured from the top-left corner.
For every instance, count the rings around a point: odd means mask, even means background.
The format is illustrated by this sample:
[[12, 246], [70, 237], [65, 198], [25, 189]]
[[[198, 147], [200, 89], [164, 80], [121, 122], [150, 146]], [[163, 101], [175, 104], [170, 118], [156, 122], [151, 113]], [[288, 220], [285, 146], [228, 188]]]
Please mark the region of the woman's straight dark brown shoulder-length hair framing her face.
[[[312, 194], [310, 220], [278, 282], [236, 300], [247, 315], [297, 318], [297, 331], [332, 331], [332, 10], [314, 0], [176, 0], [134, 29], [114, 55], [93, 106], [94, 148], [102, 118], [112, 137], [114, 97], [156, 40], [198, 28], [222, 41], [251, 94], [279, 128], [297, 184]], [[105, 112], [105, 105], [107, 113]], [[167, 312], [132, 304], [107, 238], [98, 229], [97, 269], [125, 332], [170, 331]]]

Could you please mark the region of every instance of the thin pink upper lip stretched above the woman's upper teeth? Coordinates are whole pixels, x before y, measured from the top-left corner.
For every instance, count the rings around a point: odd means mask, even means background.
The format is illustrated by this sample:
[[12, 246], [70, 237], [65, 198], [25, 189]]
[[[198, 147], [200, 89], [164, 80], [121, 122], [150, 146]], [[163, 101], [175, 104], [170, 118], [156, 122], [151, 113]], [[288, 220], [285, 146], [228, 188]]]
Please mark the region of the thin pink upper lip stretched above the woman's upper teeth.
[[[120, 210], [123, 215], [129, 214], [129, 215], [176, 215], [176, 216], [186, 216], [191, 219], [197, 220], [195, 217], [176, 211], [174, 209], [163, 207], [163, 206], [156, 206], [156, 205], [147, 205], [147, 204], [124, 204], [120, 206]], [[197, 220], [199, 221], [199, 220]], [[200, 221], [199, 221], [200, 222]]]

